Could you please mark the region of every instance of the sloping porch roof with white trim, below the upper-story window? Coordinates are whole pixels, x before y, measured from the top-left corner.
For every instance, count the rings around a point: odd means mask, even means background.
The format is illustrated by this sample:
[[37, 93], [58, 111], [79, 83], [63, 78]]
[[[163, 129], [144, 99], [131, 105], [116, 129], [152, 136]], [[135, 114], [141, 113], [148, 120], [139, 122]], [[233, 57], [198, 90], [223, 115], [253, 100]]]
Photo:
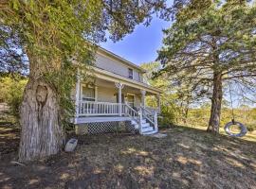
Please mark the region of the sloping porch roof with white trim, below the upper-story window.
[[124, 85], [128, 85], [128, 86], [138, 88], [138, 89], [141, 89], [141, 90], [145, 90], [145, 91], [147, 91], [149, 93], [152, 93], [152, 94], [161, 94], [162, 93], [162, 91], [160, 89], [152, 87], [152, 86], [150, 86], [146, 83], [139, 82], [135, 79], [131, 79], [131, 78], [128, 78], [128, 77], [123, 77], [123, 76], [120, 76], [118, 74], [115, 74], [115, 73], [109, 72], [107, 70], [101, 69], [99, 67], [94, 67], [93, 69], [95, 71], [94, 74], [95, 74], [96, 77], [99, 77], [99, 78], [102, 78], [102, 79], [105, 79], [105, 80], [109, 80], [109, 81], [113, 81], [113, 82], [121, 82]]

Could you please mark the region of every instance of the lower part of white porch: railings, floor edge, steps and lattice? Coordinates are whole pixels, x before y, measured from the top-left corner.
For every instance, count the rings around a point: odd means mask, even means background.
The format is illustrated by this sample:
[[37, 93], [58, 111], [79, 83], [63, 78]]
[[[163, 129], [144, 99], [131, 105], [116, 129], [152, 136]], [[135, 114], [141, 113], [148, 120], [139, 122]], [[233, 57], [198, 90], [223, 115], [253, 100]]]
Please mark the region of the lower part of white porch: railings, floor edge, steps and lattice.
[[[125, 127], [130, 131], [138, 131], [140, 134], [153, 134], [158, 131], [157, 111], [147, 110], [144, 107], [133, 109], [127, 102], [125, 104], [109, 102], [81, 101], [79, 104], [79, 117], [76, 124], [88, 126], [90, 133], [110, 131], [119, 127], [118, 123], [126, 123]], [[128, 126], [127, 126], [128, 122]], [[112, 125], [112, 126], [110, 126]], [[99, 128], [101, 127], [101, 128]], [[103, 129], [102, 129], [103, 128]], [[86, 132], [88, 133], [88, 132]]]

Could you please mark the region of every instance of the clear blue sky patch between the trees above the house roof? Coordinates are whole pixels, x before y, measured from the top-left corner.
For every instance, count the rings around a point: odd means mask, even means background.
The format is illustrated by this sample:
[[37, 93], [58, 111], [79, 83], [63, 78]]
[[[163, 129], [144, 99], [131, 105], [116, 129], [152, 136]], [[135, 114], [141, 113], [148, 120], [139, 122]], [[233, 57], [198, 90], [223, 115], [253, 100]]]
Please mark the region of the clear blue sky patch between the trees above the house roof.
[[134, 32], [126, 35], [122, 41], [113, 43], [108, 40], [106, 43], [101, 43], [101, 46], [137, 65], [154, 61], [157, 57], [156, 51], [161, 47], [162, 29], [169, 26], [171, 26], [170, 21], [166, 22], [154, 17], [150, 26], [138, 25]]

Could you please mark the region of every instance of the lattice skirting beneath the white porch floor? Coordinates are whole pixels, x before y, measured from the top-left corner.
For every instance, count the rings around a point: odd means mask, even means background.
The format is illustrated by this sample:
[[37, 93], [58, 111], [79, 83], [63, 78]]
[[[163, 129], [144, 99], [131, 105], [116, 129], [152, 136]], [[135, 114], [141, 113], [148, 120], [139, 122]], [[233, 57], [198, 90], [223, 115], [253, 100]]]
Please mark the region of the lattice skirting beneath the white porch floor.
[[108, 132], [132, 132], [136, 133], [135, 127], [130, 121], [113, 121], [113, 122], [99, 122], [87, 123], [78, 125], [76, 127], [78, 134], [99, 134]]

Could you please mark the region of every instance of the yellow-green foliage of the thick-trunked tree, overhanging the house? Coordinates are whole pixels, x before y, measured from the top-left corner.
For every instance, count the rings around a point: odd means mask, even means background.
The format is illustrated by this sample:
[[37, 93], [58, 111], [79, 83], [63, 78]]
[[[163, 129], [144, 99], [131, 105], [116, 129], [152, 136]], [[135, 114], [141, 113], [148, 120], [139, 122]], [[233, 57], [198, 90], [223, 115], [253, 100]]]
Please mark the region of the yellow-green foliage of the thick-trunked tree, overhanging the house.
[[[156, 11], [168, 17], [161, 10], [165, 0], [10, 0], [0, 6], [1, 47], [9, 52], [9, 38], [18, 39], [29, 61], [28, 82], [43, 80], [54, 89], [63, 121], [74, 112], [70, 92], [77, 71], [83, 72], [82, 76], [88, 74], [96, 44], [105, 41], [106, 31], [118, 41], [137, 24], [149, 24]], [[17, 56], [11, 55], [13, 59]]]

